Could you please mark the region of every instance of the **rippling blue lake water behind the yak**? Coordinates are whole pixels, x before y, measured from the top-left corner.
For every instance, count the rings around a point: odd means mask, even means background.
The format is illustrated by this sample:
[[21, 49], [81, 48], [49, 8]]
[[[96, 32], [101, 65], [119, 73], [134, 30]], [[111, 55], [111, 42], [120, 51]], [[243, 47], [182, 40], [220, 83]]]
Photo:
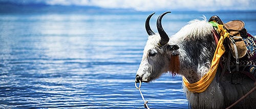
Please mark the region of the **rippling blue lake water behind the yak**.
[[[148, 14], [0, 14], [0, 107], [144, 108], [134, 80]], [[256, 12], [172, 12], [163, 27], [173, 35], [203, 15], [244, 20], [256, 35]], [[179, 75], [141, 88], [151, 108], [188, 108]]]

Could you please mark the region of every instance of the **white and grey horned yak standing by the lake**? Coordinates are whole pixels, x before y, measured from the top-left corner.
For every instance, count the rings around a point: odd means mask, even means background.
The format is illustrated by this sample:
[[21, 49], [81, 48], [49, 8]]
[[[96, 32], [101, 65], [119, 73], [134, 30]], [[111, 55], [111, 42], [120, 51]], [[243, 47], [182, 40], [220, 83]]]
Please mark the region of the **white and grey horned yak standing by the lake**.
[[[143, 57], [135, 81], [148, 83], [166, 72], [182, 75], [189, 83], [196, 83], [205, 75], [211, 66], [217, 47], [212, 34], [212, 25], [204, 20], [188, 22], [178, 33], [168, 37], [162, 28], [161, 14], [157, 19], [158, 33], [154, 33], [149, 24], [151, 14], [147, 17], [145, 28], [148, 40], [143, 50]], [[178, 56], [180, 64], [174, 63], [171, 57]], [[176, 66], [179, 69], [170, 68]], [[231, 73], [225, 74], [219, 81], [218, 70], [214, 80], [202, 93], [191, 92], [183, 85], [188, 102], [192, 108], [226, 108], [253, 88], [254, 81], [243, 77], [242, 85], [231, 84]], [[256, 91], [234, 105], [233, 108], [256, 108]]]

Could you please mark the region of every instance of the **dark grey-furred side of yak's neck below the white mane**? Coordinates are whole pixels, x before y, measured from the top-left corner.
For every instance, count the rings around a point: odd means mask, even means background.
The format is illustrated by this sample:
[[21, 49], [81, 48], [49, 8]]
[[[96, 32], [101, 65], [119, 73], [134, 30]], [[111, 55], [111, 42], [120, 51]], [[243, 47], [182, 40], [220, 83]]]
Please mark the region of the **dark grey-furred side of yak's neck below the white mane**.
[[189, 83], [196, 83], [210, 69], [216, 44], [213, 38], [186, 40], [179, 44], [180, 71]]

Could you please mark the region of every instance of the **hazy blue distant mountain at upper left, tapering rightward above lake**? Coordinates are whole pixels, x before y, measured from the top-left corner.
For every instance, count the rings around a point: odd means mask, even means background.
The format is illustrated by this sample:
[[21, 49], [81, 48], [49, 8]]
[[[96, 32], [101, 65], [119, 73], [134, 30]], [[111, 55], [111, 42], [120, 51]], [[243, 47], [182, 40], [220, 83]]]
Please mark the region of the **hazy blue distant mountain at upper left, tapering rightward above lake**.
[[15, 4], [0, 2], [0, 13], [133, 13], [133, 9], [105, 9], [95, 6]]

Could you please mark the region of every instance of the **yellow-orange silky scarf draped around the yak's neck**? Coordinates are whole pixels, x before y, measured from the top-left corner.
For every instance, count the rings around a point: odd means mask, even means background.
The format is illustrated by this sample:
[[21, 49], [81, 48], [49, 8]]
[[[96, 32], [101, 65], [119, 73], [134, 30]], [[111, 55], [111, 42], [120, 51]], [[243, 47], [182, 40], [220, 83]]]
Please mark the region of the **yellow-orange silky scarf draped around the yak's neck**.
[[217, 44], [217, 48], [214, 53], [214, 58], [211, 61], [210, 70], [196, 83], [190, 84], [185, 77], [183, 77], [183, 84], [187, 87], [188, 91], [194, 92], [194, 93], [201, 93], [204, 92], [209, 85], [211, 84], [212, 80], [214, 80], [217, 68], [219, 66], [220, 58], [225, 52], [225, 48], [223, 45], [223, 41], [226, 37], [229, 37], [229, 33], [226, 32], [225, 29], [223, 29], [223, 25], [218, 25], [218, 30], [220, 33], [220, 39]]

